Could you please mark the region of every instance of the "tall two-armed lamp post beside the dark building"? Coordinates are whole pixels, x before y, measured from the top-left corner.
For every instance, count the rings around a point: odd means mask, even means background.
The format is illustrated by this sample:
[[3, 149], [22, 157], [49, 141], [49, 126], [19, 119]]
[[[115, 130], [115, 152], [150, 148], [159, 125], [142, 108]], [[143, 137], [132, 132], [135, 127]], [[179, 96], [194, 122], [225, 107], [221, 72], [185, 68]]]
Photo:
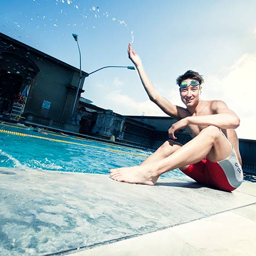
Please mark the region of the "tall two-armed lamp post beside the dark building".
[[82, 75], [82, 66], [81, 66], [81, 52], [80, 52], [80, 48], [79, 48], [79, 44], [78, 44], [78, 35], [77, 34], [72, 34], [75, 42], [77, 42], [77, 46], [78, 46], [78, 50], [79, 50], [79, 62], [80, 62], [80, 68], [79, 68], [79, 71], [80, 71], [80, 77], [79, 77], [79, 82], [78, 82], [78, 86], [77, 86], [77, 91], [75, 93], [75, 98], [74, 98], [74, 103], [73, 103], [73, 107], [72, 107], [72, 112], [71, 112], [71, 121], [74, 121], [74, 118], [73, 118], [73, 114], [74, 114], [74, 108], [75, 108], [75, 103], [77, 102], [77, 96], [78, 96], [78, 92], [79, 92], [79, 88], [80, 88], [80, 85], [81, 85], [81, 82], [82, 82], [82, 79], [85, 78], [85, 77], [89, 77], [89, 75], [97, 72], [97, 71], [100, 71], [101, 69], [103, 68], [127, 68], [127, 69], [132, 69], [132, 70], [135, 70], [135, 67], [133, 66], [106, 66], [106, 67], [102, 67], [102, 68], [98, 68], [96, 69], [95, 71], [92, 71], [91, 73], [89, 74], [86, 74], [86, 75]]

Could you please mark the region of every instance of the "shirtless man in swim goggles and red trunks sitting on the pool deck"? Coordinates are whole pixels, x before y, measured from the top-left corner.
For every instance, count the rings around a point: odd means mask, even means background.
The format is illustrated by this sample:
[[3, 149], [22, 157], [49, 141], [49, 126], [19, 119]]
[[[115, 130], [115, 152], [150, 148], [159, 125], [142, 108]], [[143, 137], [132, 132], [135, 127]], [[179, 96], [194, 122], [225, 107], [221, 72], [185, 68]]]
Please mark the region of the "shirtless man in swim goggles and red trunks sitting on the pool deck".
[[141, 165], [110, 170], [111, 178], [120, 182], [154, 185], [162, 173], [179, 168], [201, 184], [226, 191], [236, 189], [243, 179], [234, 130], [240, 124], [236, 113], [223, 101], [201, 100], [203, 78], [194, 71], [187, 71], [176, 80], [186, 108], [173, 105], [156, 91], [131, 43], [128, 54], [150, 100], [178, 120], [168, 130], [169, 137], [176, 139], [175, 133], [187, 127], [193, 139], [184, 146], [168, 140]]

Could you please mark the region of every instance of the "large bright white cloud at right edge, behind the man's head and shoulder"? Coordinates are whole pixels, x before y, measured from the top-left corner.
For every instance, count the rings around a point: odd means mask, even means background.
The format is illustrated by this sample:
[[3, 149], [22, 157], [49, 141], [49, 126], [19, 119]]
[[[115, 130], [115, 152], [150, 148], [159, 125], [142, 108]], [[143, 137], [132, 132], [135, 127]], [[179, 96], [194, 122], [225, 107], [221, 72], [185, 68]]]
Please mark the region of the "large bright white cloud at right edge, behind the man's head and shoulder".
[[206, 77], [203, 86], [203, 98], [223, 100], [238, 114], [241, 119], [237, 128], [239, 138], [256, 139], [255, 73], [256, 54], [244, 54], [226, 68], [223, 77]]

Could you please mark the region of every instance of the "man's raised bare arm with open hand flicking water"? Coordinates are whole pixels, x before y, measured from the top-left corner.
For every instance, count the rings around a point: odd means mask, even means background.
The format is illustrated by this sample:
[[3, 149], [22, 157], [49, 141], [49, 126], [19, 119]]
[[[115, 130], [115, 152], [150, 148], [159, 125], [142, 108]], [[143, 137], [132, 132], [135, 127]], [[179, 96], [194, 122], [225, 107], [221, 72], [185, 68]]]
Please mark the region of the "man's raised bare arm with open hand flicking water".
[[176, 119], [180, 119], [181, 117], [178, 113], [177, 106], [173, 105], [165, 97], [161, 96], [159, 92], [154, 88], [154, 85], [148, 78], [148, 75], [143, 68], [141, 59], [136, 54], [136, 51], [132, 50], [131, 43], [129, 43], [128, 46], [128, 55], [129, 59], [133, 62], [138, 71], [139, 77], [141, 78], [141, 82], [150, 100], [153, 101], [156, 105], [158, 105], [162, 109], [162, 111], [164, 111], [167, 115], [170, 115], [171, 117]]

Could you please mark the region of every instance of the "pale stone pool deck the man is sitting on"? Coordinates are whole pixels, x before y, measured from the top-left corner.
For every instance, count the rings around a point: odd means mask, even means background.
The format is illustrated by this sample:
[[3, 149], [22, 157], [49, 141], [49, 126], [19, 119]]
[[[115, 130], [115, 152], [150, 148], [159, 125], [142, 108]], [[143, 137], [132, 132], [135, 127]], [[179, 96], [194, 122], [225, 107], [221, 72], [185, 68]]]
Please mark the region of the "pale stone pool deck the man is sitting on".
[[0, 255], [255, 255], [256, 183], [0, 168]]

